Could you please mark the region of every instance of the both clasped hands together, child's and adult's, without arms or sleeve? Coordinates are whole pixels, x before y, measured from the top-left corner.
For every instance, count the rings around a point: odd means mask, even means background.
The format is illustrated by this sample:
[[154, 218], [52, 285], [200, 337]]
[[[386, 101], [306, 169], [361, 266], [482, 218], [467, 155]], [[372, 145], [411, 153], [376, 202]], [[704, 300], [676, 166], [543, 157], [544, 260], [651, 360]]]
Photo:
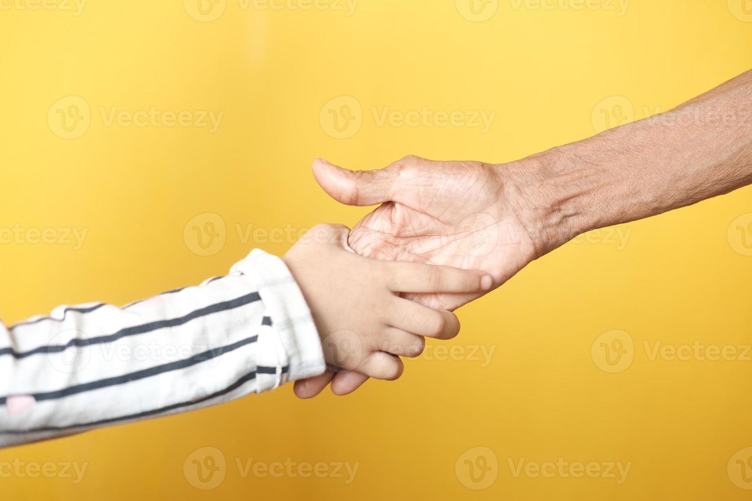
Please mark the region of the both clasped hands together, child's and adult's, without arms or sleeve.
[[296, 382], [299, 397], [329, 382], [348, 394], [369, 376], [399, 378], [399, 357], [419, 356], [424, 337], [459, 333], [454, 309], [550, 250], [523, 198], [524, 166], [406, 157], [377, 171], [313, 168], [342, 204], [381, 205], [349, 233], [317, 226], [284, 256], [332, 367]]

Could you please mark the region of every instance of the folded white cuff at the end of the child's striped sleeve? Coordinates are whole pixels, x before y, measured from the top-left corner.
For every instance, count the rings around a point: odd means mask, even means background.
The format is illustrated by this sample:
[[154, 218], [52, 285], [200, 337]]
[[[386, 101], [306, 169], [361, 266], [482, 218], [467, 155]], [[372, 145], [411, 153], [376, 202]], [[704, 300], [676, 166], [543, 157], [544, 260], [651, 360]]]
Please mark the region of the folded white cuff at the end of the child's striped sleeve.
[[254, 249], [231, 273], [256, 280], [268, 316], [259, 326], [257, 341], [259, 391], [322, 374], [326, 363], [314, 318], [284, 261]]

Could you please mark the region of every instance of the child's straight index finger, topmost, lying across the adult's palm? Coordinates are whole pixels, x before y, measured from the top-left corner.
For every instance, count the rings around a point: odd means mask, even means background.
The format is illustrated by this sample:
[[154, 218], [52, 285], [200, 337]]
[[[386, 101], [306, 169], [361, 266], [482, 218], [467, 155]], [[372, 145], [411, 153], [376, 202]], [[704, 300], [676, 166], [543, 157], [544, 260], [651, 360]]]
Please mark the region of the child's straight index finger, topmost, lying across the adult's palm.
[[491, 276], [480, 270], [462, 270], [449, 266], [421, 263], [384, 263], [394, 292], [485, 292], [493, 287]]

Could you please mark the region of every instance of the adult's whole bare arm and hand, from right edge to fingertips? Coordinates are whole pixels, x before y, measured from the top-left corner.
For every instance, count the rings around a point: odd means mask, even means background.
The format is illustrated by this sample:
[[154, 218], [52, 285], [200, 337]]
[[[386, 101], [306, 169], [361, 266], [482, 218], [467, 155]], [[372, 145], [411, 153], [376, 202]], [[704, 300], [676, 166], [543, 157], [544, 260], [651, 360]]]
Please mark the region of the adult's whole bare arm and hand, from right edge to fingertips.
[[[356, 252], [484, 270], [498, 286], [585, 231], [752, 184], [750, 96], [747, 71], [667, 113], [510, 164], [407, 157], [381, 171], [350, 172], [316, 161], [314, 175], [344, 204], [386, 202], [353, 228]], [[417, 299], [453, 309], [474, 297]], [[313, 396], [327, 378], [296, 392]], [[348, 393], [363, 381], [338, 375], [332, 389]]]

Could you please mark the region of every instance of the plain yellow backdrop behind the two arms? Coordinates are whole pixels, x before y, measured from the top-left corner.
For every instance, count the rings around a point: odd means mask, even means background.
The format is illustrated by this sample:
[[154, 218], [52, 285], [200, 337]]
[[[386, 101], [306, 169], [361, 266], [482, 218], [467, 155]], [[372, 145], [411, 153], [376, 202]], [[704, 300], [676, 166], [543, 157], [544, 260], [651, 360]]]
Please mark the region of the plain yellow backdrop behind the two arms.
[[[0, 245], [6, 323], [60, 303], [127, 303], [196, 284], [226, 273], [253, 246], [282, 254], [291, 244], [263, 234], [243, 242], [238, 225], [353, 225], [367, 210], [318, 189], [310, 173], [317, 156], [350, 168], [382, 167], [408, 153], [511, 161], [595, 134], [601, 109], [614, 112], [625, 99], [643, 118], [752, 61], [752, 23], [735, 0], [632, 0], [623, 16], [567, 10], [558, 0], [550, 10], [502, 0], [488, 4], [497, 10], [485, 11], [493, 16], [484, 22], [463, 17], [453, 0], [361, 0], [351, 16], [228, 0], [212, 22], [193, 19], [190, 2], [180, 0], [90, 0], [78, 16], [4, 2], [0, 228], [88, 231], [80, 249]], [[62, 139], [47, 115], [71, 95], [85, 99], [91, 123], [81, 137]], [[346, 139], [320, 121], [338, 96], [362, 107], [362, 126]], [[211, 134], [108, 126], [100, 109], [113, 107], [224, 115]], [[371, 107], [496, 117], [486, 134], [379, 126]], [[729, 238], [729, 225], [752, 213], [750, 195], [742, 189], [624, 225], [631, 231], [624, 246], [605, 232], [569, 243], [461, 309], [463, 332], [451, 342], [459, 355], [429, 352], [407, 362], [399, 382], [311, 401], [280, 388], [0, 451], [0, 462], [88, 465], [80, 484], [0, 478], [2, 497], [749, 499], [727, 463], [752, 445], [752, 361], [650, 360], [644, 343], [752, 343], [752, 257]], [[203, 213], [226, 223], [226, 243], [211, 257], [191, 252], [183, 238], [186, 223]], [[591, 355], [611, 330], [634, 343], [632, 364], [618, 373]], [[480, 352], [471, 356], [480, 346], [495, 350], [489, 364], [477, 360]], [[226, 458], [226, 478], [213, 490], [183, 475], [186, 457], [202, 447]], [[484, 490], [462, 479], [461, 456], [475, 447], [489, 448], [498, 463]], [[515, 477], [509, 466], [559, 457], [632, 466], [622, 484]], [[243, 478], [236, 459], [250, 458], [359, 469], [351, 484]]]

